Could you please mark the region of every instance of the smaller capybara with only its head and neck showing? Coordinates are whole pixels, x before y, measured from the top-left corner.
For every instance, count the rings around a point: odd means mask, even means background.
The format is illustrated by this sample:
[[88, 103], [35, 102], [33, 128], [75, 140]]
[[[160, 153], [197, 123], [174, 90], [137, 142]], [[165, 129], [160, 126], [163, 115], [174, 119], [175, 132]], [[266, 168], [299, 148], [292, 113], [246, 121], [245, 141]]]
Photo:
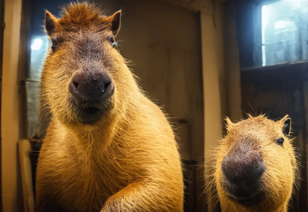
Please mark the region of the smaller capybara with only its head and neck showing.
[[286, 212], [298, 176], [289, 116], [226, 123], [211, 165], [222, 212]]

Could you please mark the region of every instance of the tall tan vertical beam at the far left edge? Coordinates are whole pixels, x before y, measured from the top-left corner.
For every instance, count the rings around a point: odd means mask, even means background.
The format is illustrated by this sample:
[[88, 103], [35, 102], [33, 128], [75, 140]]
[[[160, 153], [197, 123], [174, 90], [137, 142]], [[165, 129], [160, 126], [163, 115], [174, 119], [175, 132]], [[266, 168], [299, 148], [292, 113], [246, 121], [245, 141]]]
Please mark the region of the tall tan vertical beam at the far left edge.
[[[1, 101], [2, 207], [4, 212], [20, 210], [18, 202], [17, 142], [20, 139], [18, 54], [21, 0], [4, 1]], [[22, 205], [22, 204], [21, 204]]]

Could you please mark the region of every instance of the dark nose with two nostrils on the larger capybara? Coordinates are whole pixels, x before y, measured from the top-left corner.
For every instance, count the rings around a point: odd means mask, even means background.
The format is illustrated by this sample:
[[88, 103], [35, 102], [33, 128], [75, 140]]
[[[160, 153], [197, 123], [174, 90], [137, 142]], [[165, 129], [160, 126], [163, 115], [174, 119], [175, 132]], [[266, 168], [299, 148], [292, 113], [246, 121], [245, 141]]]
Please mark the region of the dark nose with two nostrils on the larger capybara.
[[111, 96], [113, 88], [108, 74], [95, 72], [77, 72], [69, 84], [69, 91], [75, 98], [89, 103], [100, 103]]

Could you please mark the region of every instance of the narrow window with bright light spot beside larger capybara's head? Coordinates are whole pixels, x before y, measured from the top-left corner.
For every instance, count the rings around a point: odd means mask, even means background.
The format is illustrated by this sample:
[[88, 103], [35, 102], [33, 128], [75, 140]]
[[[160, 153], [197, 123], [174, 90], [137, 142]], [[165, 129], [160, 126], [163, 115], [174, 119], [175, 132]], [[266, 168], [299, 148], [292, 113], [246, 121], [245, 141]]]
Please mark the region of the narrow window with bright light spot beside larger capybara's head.
[[47, 116], [45, 110], [41, 111], [39, 104], [40, 76], [43, 69], [44, 60], [51, 47], [51, 41], [48, 39], [44, 28], [44, 13], [48, 9], [52, 14], [58, 16], [60, 7], [69, 0], [29, 0], [30, 4], [30, 36], [29, 49], [30, 67], [27, 67], [26, 73], [26, 136], [44, 137], [50, 116]]

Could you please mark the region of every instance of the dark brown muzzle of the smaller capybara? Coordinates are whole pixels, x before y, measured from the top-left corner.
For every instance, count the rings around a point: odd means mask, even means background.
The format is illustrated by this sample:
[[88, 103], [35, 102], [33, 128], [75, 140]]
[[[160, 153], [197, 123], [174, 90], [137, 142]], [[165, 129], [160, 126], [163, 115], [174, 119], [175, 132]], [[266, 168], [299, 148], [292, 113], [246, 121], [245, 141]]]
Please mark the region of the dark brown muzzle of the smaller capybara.
[[241, 144], [235, 151], [224, 157], [221, 170], [224, 184], [233, 197], [248, 198], [260, 193], [260, 178], [265, 172], [265, 164], [259, 152]]

